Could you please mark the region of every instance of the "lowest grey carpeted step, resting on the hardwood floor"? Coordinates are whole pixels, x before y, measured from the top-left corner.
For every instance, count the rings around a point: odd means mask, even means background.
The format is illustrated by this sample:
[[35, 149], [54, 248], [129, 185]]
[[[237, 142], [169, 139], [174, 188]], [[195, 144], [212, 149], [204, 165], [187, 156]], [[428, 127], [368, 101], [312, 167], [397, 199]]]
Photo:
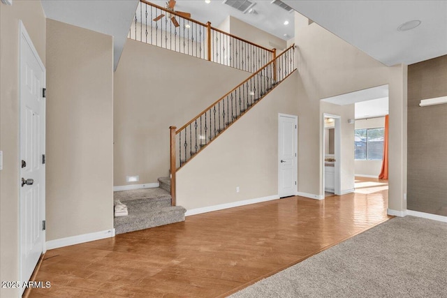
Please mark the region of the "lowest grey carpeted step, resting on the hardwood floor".
[[151, 211], [129, 210], [129, 216], [115, 217], [115, 234], [179, 223], [184, 221], [186, 209], [181, 206], [163, 207]]

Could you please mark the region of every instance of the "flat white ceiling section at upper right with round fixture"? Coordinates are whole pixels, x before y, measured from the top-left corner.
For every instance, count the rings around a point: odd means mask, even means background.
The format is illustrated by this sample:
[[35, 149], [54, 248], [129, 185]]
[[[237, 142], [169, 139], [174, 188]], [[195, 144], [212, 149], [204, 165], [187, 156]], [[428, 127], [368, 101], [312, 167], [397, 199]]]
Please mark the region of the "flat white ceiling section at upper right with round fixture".
[[[288, 6], [387, 66], [447, 54], [447, 1], [291, 1]], [[419, 27], [397, 31], [411, 20]]]

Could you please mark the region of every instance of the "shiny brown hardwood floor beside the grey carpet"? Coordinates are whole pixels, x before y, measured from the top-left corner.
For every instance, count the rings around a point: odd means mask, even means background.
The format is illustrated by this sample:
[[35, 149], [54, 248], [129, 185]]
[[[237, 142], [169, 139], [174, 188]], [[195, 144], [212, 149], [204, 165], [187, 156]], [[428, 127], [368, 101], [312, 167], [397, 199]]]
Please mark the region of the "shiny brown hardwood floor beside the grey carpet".
[[29, 297], [219, 297], [386, 221], [388, 185], [284, 198], [47, 251]]

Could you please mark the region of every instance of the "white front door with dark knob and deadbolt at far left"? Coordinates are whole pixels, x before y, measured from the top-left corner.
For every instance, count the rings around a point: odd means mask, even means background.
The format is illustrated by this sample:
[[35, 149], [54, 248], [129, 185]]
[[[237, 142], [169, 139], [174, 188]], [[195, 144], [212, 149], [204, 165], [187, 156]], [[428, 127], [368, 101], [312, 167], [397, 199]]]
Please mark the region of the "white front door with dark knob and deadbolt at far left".
[[[45, 67], [20, 28], [20, 262], [29, 281], [43, 253], [45, 232]], [[24, 289], [22, 289], [23, 291]]]

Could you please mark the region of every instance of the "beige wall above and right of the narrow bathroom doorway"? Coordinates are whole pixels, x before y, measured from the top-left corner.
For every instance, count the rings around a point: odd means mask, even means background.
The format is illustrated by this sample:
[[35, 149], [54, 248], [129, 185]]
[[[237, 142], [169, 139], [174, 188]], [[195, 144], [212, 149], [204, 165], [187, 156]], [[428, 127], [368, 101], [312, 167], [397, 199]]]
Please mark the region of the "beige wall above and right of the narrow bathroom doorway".
[[[321, 114], [323, 113], [340, 117], [340, 158], [338, 161], [340, 166], [340, 191], [341, 193], [350, 193], [354, 189], [354, 125], [349, 124], [348, 119], [354, 119], [354, 104], [334, 105], [321, 101]], [[321, 168], [322, 171], [323, 167]]]

